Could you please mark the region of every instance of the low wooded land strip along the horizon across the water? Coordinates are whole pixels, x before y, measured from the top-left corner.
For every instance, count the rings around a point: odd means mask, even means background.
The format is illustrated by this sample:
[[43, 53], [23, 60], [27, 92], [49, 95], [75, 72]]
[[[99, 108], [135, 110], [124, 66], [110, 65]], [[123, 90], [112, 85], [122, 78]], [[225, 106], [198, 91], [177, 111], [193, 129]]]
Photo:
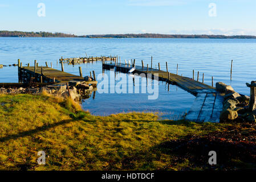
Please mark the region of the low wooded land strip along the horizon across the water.
[[189, 38], [189, 39], [256, 39], [253, 35], [169, 35], [169, 34], [103, 34], [103, 35], [74, 35], [51, 32], [22, 32], [22, 31], [0, 31], [0, 37], [58, 37], [58, 38]]

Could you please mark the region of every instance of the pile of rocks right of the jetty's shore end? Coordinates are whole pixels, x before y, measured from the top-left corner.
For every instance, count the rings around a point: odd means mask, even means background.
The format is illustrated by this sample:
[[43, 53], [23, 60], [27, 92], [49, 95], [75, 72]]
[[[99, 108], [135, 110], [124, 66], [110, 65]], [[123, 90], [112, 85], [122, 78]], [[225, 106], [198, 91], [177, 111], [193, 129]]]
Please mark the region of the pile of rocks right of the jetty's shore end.
[[220, 115], [222, 122], [256, 122], [256, 110], [249, 110], [249, 96], [235, 92], [230, 85], [223, 82], [216, 83], [216, 90], [224, 96], [223, 109]]

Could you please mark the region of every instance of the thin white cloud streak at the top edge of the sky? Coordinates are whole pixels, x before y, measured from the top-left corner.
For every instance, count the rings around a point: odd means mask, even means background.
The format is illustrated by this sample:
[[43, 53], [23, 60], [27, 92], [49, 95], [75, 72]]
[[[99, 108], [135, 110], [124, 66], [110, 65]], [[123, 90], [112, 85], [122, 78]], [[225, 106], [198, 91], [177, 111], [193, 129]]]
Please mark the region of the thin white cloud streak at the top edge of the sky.
[[184, 1], [180, 0], [129, 0], [129, 6], [175, 6], [184, 5]]

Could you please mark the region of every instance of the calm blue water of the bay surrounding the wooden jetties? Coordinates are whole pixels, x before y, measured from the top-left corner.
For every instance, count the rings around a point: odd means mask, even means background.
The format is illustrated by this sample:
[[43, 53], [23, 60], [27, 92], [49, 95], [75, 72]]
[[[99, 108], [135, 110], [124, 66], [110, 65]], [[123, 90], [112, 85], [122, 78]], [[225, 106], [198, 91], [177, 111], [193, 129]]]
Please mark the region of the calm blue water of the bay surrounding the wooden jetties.
[[[254, 39], [87, 39], [87, 38], [0, 38], [0, 64], [17, 64], [21, 59], [23, 65], [39, 65], [45, 61], [53, 63], [55, 69], [61, 69], [57, 60], [63, 57], [81, 57], [100, 55], [119, 55], [121, 60], [144, 60], [154, 67], [160, 62], [165, 69], [168, 61], [170, 72], [192, 77], [192, 70], [205, 74], [206, 84], [222, 81], [232, 85], [242, 94], [249, 94], [246, 82], [255, 80], [256, 40]], [[233, 59], [233, 80], [230, 81], [230, 63]], [[83, 69], [83, 75], [94, 70], [96, 75], [102, 72], [101, 63], [67, 65], [64, 71], [79, 75], [78, 67]], [[18, 82], [17, 67], [0, 69], [0, 82]], [[109, 71], [105, 72], [109, 75]], [[121, 73], [119, 73], [121, 74]], [[197, 75], [197, 74], [196, 74]], [[164, 117], [171, 118], [189, 110], [194, 96], [170, 85], [159, 82], [159, 98], [147, 100], [147, 94], [100, 94], [96, 92], [83, 102], [84, 109], [92, 114], [108, 115], [123, 111], [159, 111]], [[171, 113], [171, 114], [170, 114]]]

